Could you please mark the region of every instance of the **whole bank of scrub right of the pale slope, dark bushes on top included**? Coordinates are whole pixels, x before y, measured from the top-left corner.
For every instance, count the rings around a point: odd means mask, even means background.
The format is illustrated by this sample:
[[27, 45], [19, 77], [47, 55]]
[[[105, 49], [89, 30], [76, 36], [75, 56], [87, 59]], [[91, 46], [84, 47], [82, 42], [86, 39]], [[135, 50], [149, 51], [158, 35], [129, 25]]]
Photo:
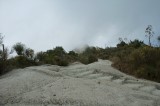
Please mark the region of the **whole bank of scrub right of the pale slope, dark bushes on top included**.
[[100, 49], [98, 58], [110, 59], [122, 72], [160, 82], [160, 48], [143, 41], [120, 42], [117, 47]]

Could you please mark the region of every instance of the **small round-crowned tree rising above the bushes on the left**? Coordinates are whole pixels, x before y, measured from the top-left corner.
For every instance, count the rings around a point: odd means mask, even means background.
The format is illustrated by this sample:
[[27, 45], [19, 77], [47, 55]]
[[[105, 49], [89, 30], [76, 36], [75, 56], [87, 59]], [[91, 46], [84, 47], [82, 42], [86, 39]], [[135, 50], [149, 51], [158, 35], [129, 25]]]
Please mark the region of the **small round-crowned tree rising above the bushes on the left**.
[[17, 55], [24, 55], [25, 45], [18, 42], [13, 46], [13, 49], [16, 51]]

